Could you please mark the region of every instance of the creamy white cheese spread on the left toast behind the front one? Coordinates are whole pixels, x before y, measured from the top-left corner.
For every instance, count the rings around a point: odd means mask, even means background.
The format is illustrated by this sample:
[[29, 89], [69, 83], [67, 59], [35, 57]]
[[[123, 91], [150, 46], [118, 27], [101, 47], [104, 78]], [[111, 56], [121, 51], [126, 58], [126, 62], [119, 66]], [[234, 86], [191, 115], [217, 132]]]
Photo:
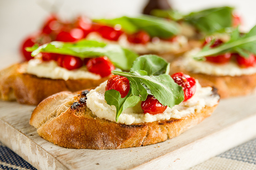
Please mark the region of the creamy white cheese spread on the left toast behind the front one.
[[100, 75], [87, 71], [85, 66], [75, 70], [67, 70], [63, 67], [59, 67], [55, 61], [43, 62], [40, 59], [29, 60], [24, 70], [24, 73], [29, 73], [40, 78], [63, 80], [101, 79]]

